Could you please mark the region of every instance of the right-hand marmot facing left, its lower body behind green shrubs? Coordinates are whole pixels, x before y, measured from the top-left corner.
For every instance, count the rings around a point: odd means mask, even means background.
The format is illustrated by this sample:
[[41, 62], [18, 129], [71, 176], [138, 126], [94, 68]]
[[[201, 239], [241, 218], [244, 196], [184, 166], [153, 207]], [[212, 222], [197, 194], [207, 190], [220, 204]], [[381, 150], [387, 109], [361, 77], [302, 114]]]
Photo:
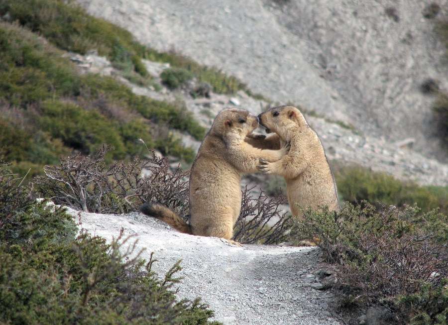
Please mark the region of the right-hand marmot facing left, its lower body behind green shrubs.
[[285, 177], [292, 214], [301, 217], [299, 206], [304, 209], [328, 206], [339, 211], [336, 183], [324, 148], [300, 110], [292, 106], [275, 107], [259, 114], [258, 119], [267, 133], [274, 131], [280, 141], [291, 143], [287, 155], [275, 162], [261, 160], [259, 169], [265, 174]]

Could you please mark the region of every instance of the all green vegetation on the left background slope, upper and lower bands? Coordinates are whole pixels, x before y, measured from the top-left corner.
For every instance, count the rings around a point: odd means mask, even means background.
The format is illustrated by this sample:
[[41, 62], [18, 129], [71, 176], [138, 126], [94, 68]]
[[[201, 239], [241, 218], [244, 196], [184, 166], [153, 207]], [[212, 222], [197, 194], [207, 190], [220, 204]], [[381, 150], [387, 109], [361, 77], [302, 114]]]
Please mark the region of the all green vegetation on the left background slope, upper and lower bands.
[[137, 139], [191, 162], [194, 151], [168, 129], [197, 140], [205, 134], [182, 103], [134, 95], [111, 77], [81, 75], [65, 50], [97, 50], [130, 80], [150, 79], [141, 61], [147, 58], [189, 71], [218, 93], [245, 89], [216, 69], [151, 50], [126, 30], [65, 1], [6, 0], [0, 15], [8, 17], [0, 23], [0, 155], [14, 162], [16, 171], [31, 168], [38, 174], [61, 155], [89, 154], [103, 143], [115, 148], [113, 159], [141, 155], [146, 149]]

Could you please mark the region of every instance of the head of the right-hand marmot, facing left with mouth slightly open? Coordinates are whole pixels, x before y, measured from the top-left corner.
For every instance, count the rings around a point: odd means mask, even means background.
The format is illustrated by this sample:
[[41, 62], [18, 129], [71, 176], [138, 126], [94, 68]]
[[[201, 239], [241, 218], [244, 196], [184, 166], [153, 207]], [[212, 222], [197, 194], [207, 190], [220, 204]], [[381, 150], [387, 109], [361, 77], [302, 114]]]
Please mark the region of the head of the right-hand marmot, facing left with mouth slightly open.
[[300, 110], [293, 106], [270, 108], [259, 114], [258, 120], [266, 128], [266, 133], [273, 131], [283, 139], [288, 138], [287, 132], [293, 127], [309, 127]]

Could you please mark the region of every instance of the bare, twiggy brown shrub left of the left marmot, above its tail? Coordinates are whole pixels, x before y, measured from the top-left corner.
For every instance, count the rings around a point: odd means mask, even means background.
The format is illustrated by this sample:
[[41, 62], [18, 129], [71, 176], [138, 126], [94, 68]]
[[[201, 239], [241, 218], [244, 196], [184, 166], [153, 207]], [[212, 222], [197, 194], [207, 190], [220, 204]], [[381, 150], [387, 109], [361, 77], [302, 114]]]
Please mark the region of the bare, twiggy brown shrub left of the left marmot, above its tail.
[[96, 213], [127, 213], [144, 202], [160, 202], [184, 214], [188, 207], [188, 172], [171, 171], [168, 161], [152, 152], [146, 161], [106, 164], [111, 148], [94, 155], [61, 159], [59, 166], [46, 166], [37, 178], [38, 193], [56, 204]]

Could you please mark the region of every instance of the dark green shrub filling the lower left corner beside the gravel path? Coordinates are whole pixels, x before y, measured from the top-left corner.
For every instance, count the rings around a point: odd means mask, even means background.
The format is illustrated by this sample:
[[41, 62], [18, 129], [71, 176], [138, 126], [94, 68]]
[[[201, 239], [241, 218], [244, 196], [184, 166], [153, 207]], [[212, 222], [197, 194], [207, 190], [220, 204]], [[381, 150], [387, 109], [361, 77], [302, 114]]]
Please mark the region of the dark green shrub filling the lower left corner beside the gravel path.
[[179, 262], [158, 279], [152, 255], [120, 253], [122, 232], [110, 245], [77, 236], [65, 209], [47, 204], [0, 166], [0, 323], [220, 324], [199, 300], [176, 302]]

